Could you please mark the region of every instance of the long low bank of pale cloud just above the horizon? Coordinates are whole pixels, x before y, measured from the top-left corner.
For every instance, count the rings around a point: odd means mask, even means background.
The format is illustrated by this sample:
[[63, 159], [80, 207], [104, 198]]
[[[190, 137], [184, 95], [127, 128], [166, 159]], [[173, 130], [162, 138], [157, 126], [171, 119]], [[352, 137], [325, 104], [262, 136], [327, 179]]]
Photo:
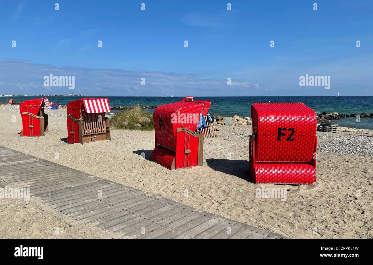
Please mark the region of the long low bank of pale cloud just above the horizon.
[[[44, 87], [44, 76], [75, 76], [75, 89]], [[145, 78], [145, 85], [141, 85]], [[0, 94], [84, 94], [86, 96], [248, 96], [258, 90], [255, 82], [232, 79], [203, 79], [194, 74], [133, 72], [122, 69], [87, 69], [0, 59]]]

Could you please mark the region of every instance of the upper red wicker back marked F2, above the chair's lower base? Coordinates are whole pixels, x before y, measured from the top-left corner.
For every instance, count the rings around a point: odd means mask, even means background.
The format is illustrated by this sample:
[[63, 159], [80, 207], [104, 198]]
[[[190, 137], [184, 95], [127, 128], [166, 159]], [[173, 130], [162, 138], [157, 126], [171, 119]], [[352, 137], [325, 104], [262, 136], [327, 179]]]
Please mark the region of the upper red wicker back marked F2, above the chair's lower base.
[[254, 103], [257, 162], [312, 162], [316, 114], [303, 103]]

